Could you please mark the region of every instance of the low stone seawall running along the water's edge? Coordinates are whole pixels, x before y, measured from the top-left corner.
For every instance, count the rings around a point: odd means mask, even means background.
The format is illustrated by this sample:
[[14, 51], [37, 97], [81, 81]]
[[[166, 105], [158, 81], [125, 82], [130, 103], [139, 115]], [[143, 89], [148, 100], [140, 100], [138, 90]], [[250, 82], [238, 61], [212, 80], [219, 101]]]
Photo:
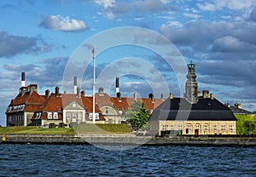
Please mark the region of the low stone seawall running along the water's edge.
[[[1, 134], [2, 135], [2, 134]], [[92, 145], [133, 145], [133, 146], [255, 146], [255, 137], [150, 137], [132, 134], [102, 135], [2, 135], [5, 144], [92, 144]]]

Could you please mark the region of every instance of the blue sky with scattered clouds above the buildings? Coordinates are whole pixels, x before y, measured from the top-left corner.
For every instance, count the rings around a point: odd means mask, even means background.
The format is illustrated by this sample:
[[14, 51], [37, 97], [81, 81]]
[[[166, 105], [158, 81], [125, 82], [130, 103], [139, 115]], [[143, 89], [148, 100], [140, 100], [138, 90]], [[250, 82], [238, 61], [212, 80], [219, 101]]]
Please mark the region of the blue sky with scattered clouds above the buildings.
[[94, 47], [96, 89], [112, 96], [115, 77], [122, 96], [183, 95], [193, 60], [199, 90], [256, 111], [254, 0], [2, 0], [0, 23], [3, 126], [21, 71], [39, 94], [71, 92], [77, 76], [91, 95]]

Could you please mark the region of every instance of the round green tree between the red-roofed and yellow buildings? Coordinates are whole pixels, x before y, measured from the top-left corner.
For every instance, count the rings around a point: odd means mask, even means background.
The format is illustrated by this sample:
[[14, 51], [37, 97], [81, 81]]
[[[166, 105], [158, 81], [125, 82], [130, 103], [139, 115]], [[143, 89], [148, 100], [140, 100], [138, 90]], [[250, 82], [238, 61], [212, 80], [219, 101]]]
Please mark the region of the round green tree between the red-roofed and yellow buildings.
[[125, 110], [125, 117], [134, 130], [148, 128], [149, 114], [145, 109], [145, 104], [139, 100], [136, 100], [130, 109]]

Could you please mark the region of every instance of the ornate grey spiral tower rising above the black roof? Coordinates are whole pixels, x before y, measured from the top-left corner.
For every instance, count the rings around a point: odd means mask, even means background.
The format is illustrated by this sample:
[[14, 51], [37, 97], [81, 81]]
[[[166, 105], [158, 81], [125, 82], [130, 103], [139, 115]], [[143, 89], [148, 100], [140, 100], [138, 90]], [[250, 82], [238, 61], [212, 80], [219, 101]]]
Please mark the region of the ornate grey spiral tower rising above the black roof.
[[186, 82], [186, 88], [185, 88], [185, 94], [184, 97], [186, 100], [188, 100], [191, 104], [195, 104], [198, 101], [198, 95], [197, 95], [197, 82], [195, 80], [195, 64], [190, 61], [188, 66], [188, 74], [187, 74], [187, 82]]

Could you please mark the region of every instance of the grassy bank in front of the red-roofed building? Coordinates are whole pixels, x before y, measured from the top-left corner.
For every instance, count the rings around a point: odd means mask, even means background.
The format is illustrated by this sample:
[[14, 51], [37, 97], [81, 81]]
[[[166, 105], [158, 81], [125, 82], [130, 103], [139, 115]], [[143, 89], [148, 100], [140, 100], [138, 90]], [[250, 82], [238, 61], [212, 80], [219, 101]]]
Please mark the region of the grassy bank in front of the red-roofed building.
[[130, 134], [126, 124], [78, 124], [73, 128], [0, 127], [0, 134]]

